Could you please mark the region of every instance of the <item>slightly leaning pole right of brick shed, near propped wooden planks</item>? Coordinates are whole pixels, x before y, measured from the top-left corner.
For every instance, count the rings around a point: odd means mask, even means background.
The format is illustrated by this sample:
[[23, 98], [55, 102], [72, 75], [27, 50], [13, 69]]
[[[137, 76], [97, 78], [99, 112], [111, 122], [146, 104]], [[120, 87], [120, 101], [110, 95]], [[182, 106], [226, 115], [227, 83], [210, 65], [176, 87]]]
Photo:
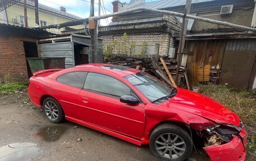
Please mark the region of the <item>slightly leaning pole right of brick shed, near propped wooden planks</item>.
[[186, 15], [190, 14], [191, 3], [192, 3], [192, 0], [186, 0], [184, 16], [183, 16], [183, 19], [182, 19], [180, 43], [179, 43], [179, 49], [178, 49], [178, 55], [177, 55], [177, 70], [176, 70], [176, 77], [175, 77], [175, 82], [176, 83], [179, 80], [179, 70], [180, 70], [180, 63], [181, 63], [181, 56], [182, 56], [181, 54], [184, 52], [186, 33], [187, 33], [187, 30], [188, 30], [189, 19], [186, 18]]

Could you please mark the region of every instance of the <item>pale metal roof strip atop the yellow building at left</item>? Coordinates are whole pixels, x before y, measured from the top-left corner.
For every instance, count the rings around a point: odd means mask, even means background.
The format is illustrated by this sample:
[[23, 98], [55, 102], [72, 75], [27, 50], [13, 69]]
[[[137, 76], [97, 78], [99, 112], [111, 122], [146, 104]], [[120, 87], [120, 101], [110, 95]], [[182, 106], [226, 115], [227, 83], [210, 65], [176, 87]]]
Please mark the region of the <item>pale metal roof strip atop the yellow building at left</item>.
[[[18, 3], [22, 3], [22, 5], [23, 5], [24, 1], [22, 0], [22, 1], [18, 2]], [[35, 3], [33, 3], [33, 2], [27, 1], [27, 5], [35, 7]], [[52, 8], [52, 7], [49, 7], [49, 6], [45, 6], [44, 4], [38, 3], [38, 8], [41, 9], [41, 10], [45, 10], [45, 11], [48, 11], [48, 12], [56, 13], [58, 15], [62, 15], [62, 16], [65, 16], [65, 17], [70, 17], [71, 19], [75, 19], [75, 20], [82, 19], [79, 16], [72, 15], [71, 13], [67, 13], [67, 12], [62, 12], [62, 11], [57, 10], [55, 8]]]

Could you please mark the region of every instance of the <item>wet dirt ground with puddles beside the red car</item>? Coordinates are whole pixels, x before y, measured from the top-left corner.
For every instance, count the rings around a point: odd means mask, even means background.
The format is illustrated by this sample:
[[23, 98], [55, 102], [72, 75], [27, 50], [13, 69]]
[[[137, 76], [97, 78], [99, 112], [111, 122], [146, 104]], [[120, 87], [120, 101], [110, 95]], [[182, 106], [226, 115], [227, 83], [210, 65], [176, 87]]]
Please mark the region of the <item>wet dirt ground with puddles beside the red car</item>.
[[[26, 92], [0, 95], [0, 160], [161, 160], [140, 147], [71, 122], [51, 123]], [[197, 150], [188, 160], [208, 160]]]

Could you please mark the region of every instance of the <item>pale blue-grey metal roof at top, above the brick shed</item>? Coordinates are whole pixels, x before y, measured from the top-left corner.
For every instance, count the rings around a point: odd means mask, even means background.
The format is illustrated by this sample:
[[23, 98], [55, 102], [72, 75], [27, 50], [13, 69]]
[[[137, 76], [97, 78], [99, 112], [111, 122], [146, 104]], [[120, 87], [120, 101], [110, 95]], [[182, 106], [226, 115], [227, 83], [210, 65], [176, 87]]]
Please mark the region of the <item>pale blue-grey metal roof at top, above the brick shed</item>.
[[[215, 0], [193, 0], [192, 3], [201, 3], [201, 2], [208, 2], [208, 1], [215, 1]], [[186, 0], [161, 0], [161, 1], [154, 1], [154, 2], [147, 2], [138, 4], [135, 7], [146, 7], [152, 9], [161, 9], [161, 8], [169, 8], [169, 7], [176, 7], [182, 6], [186, 4]], [[134, 8], [134, 7], [132, 7]]]

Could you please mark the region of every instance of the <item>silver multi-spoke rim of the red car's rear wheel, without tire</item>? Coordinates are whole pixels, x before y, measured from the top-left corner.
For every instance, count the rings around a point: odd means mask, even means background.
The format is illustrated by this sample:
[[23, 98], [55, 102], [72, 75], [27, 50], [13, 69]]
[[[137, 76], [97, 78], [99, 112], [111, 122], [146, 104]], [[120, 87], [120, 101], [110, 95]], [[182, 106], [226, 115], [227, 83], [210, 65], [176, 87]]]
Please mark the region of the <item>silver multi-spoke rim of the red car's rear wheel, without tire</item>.
[[56, 120], [59, 115], [57, 105], [52, 101], [47, 101], [44, 105], [44, 112], [46, 116], [52, 121]]

